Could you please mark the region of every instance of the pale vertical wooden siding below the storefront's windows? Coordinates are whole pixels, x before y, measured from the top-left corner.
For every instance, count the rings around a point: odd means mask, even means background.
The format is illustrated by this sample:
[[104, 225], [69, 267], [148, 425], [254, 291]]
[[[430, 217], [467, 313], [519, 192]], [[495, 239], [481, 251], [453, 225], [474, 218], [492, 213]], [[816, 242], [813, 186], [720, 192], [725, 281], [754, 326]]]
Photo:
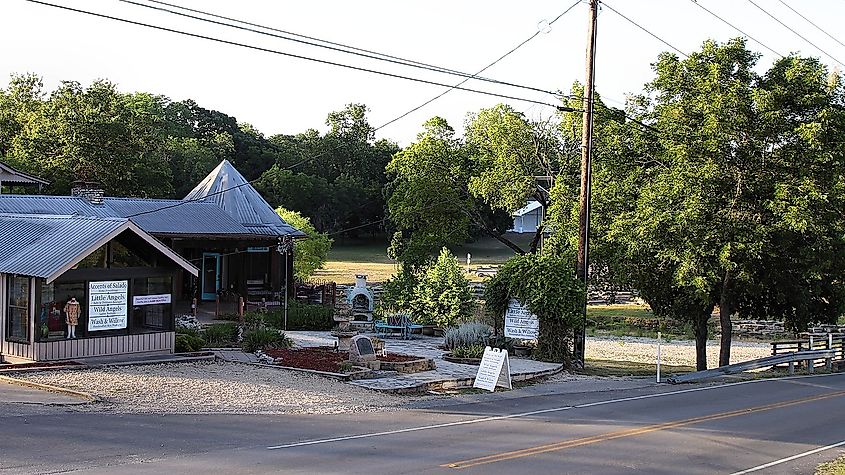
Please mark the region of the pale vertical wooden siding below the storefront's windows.
[[176, 333], [143, 333], [140, 335], [79, 338], [22, 345], [4, 343], [3, 352], [34, 361], [56, 361], [93, 356], [128, 355], [158, 351], [173, 352]]

